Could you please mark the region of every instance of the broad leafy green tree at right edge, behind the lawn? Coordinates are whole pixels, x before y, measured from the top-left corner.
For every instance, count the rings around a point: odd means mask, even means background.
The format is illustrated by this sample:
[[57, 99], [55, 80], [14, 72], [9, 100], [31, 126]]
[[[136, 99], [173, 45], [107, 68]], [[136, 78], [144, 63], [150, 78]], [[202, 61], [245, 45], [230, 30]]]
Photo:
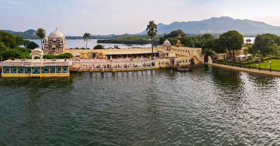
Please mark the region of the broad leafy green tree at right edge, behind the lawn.
[[260, 52], [263, 56], [279, 51], [279, 37], [275, 34], [258, 34], [251, 52]]

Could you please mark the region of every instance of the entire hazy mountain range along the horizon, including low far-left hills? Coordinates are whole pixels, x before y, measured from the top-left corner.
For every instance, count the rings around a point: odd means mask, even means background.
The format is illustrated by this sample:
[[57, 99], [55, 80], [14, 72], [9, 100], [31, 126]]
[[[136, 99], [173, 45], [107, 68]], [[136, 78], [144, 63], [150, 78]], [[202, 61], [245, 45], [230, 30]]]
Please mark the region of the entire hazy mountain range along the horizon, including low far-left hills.
[[[214, 36], [219, 36], [228, 30], [237, 30], [244, 36], [255, 36], [257, 34], [271, 33], [280, 35], [280, 27], [268, 25], [264, 22], [251, 21], [248, 19], [240, 20], [233, 19], [231, 17], [212, 17], [210, 19], [202, 21], [188, 21], [188, 22], [173, 22], [169, 25], [159, 23], [157, 25], [158, 34], [168, 34], [173, 30], [183, 30], [186, 34], [205, 34], [210, 33]], [[17, 36], [21, 36], [23, 39], [39, 39], [36, 36], [35, 30], [26, 30], [24, 32], [16, 32], [12, 30], [3, 30]], [[109, 39], [123, 36], [139, 36], [147, 35], [147, 31], [143, 30], [138, 34], [122, 34], [122, 35], [93, 35], [91, 39]], [[81, 36], [66, 36], [66, 39], [81, 39]]]

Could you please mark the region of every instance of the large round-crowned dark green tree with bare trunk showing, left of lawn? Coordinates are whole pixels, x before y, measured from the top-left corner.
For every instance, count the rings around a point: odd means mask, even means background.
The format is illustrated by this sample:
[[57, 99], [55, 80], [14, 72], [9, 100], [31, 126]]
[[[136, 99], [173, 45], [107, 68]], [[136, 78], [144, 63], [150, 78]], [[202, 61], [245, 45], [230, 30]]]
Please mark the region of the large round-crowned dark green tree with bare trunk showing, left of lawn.
[[240, 50], [242, 48], [244, 43], [243, 35], [236, 30], [230, 30], [221, 34], [219, 36], [219, 40], [221, 41], [220, 44], [222, 44], [220, 47], [226, 48], [229, 51], [231, 58], [235, 61], [234, 51]]

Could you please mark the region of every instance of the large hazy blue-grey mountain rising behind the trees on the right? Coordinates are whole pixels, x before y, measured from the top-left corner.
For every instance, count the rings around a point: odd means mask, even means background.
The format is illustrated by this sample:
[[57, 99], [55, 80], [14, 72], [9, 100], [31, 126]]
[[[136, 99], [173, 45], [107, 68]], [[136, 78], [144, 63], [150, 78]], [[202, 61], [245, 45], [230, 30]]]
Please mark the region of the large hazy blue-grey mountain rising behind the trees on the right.
[[[212, 17], [202, 21], [173, 22], [169, 25], [159, 23], [159, 34], [170, 33], [172, 30], [183, 30], [187, 34], [222, 34], [228, 30], [237, 30], [243, 35], [257, 35], [271, 33], [280, 35], [280, 27], [268, 25], [264, 22], [233, 19], [231, 17]], [[146, 30], [139, 34], [146, 34]]]

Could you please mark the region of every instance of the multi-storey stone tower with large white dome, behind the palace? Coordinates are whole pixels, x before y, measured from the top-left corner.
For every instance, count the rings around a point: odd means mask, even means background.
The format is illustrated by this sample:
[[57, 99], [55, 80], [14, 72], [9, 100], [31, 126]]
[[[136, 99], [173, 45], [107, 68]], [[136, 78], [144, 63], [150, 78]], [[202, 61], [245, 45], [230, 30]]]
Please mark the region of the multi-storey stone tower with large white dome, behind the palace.
[[45, 54], [59, 54], [63, 53], [66, 46], [66, 39], [62, 32], [51, 32], [48, 37], [44, 38], [44, 53]]

